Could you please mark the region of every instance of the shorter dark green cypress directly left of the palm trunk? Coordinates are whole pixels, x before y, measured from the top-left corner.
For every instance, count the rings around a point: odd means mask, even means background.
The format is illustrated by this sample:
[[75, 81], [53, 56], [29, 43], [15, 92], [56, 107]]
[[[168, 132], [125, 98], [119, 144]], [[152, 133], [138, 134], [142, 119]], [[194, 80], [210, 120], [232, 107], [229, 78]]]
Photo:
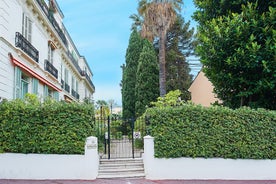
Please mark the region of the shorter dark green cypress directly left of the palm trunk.
[[143, 50], [139, 57], [135, 86], [135, 113], [141, 116], [146, 106], [150, 105], [159, 96], [158, 61], [153, 45], [144, 40]]

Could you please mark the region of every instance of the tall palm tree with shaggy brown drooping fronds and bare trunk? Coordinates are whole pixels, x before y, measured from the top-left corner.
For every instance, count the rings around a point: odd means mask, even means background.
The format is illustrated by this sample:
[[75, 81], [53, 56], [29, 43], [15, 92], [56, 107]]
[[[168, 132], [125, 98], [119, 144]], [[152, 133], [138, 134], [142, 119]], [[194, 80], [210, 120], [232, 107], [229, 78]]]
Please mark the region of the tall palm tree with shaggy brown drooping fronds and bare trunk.
[[182, 0], [140, 0], [138, 13], [143, 17], [141, 34], [159, 39], [159, 88], [160, 96], [166, 94], [166, 34], [181, 10]]

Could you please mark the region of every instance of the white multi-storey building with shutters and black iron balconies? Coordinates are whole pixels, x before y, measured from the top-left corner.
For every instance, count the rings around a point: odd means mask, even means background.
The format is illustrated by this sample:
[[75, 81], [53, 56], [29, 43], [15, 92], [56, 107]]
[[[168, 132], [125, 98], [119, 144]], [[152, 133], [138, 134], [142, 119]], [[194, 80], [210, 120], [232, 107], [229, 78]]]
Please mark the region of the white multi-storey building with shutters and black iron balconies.
[[92, 100], [92, 71], [55, 0], [0, 1], [0, 97]]

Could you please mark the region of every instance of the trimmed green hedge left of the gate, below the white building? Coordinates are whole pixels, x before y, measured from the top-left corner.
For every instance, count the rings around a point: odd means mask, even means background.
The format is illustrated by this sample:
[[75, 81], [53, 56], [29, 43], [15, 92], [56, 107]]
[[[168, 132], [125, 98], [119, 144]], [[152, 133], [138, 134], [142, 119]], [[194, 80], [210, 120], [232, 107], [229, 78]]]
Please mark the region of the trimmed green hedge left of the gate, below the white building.
[[94, 134], [91, 104], [14, 100], [0, 112], [0, 153], [83, 154]]

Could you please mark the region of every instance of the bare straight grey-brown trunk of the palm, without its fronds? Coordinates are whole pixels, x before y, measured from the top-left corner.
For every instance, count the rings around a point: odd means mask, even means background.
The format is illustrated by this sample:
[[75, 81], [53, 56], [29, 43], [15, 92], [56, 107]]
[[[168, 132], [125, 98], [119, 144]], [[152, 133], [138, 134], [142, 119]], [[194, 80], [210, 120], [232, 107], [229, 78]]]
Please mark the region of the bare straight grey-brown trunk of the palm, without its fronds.
[[166, 31], [160, 31], [159, 41], [159, 89], [160, 96], [164, 97], [166, 94]]

